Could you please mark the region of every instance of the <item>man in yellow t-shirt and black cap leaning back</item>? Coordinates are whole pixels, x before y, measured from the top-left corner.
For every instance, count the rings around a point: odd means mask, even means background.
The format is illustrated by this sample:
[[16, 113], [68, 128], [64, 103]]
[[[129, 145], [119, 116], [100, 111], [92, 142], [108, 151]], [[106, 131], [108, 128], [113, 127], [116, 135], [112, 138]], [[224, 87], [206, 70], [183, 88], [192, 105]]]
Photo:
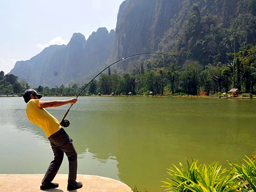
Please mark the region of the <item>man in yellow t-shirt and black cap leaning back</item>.
[[69, 179], [68, 190], [74, 190], [82, 187], [81, 182], [76, 182], [77, 173], [77, 153], [72, 143], [72, 139], [68, 136], [65, 130], [62, 129], [60, 122], [53, 117], [45, 108], [56, 107], [65, 104], [75, 104], [77, 99], [55, 100], [55, 101], [40, 101], [43, 95], [38, 94], [33, 89], [28, 89], [24, 92], [23, 98], [27, 103], [26, 114], [29, 121], [45, 131], [49, 139], [54, 160], [50, 163], [40, 189], [49, 189], [58, 187], [58, 183], [52, 183], [58, 169], [63, 160], [64, 153], [69, 160]]

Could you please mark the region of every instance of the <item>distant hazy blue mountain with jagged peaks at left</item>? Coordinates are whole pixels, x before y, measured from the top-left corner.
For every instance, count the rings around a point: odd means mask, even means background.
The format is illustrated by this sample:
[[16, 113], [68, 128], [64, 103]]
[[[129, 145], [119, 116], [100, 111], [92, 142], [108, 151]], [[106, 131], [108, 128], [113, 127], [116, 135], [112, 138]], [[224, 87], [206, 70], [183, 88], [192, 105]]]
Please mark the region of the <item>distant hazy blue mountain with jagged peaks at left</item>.
[[74, 33], [67, 46], [50, 46], [27, 61], [17, 61], [10, 73], [32, 87], [60, 86], [104, 65], [111, 56], [114, 36], [114, 30], [109, 33], [106, 28], [99, 28], [88, 40]]

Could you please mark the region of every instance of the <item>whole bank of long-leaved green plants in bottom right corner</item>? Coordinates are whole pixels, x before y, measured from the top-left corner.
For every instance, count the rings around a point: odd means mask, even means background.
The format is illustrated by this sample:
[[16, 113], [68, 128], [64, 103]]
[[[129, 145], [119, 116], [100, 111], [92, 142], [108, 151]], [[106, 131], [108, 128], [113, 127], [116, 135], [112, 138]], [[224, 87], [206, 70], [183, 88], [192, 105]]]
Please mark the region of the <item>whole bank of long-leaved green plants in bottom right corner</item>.
[[256, 156], [245, 156], [243, 161], [231, 163], [229, 169], [222, 169], [218, 162], [200, 164], [193, 160], [172, 165], [168, 170], [167, 181], [162, 181], [166, 191], [175, 192], [252, 192], [256, 191]]

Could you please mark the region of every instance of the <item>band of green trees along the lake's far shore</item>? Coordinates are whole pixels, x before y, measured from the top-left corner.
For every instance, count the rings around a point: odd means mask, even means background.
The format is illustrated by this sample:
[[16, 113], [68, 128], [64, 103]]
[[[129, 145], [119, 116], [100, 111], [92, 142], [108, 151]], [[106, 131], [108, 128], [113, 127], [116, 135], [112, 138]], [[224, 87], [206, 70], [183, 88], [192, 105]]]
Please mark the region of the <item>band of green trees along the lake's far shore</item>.
[[[200, 65], [199, 61], [187, 60], [182, 65], [173, 58], [161, 56], [131, 65], [123, 74], [107, 73], [94, 80], [83, 94], [102, 95], [206, 95], [228, 92], [237, 88], [243, 93], [255, 94], [256, 46], [247, 45], [238, 53], [228, 54], [230, 60], [215, 65]], [[115, 69], [113, 70], [115, 71]], [[0, 94], [19, 94], [29, 88], [26, 81], [18, 82], [13, 74], [0, 72]], [[49, 88], [34, 88], [45, 96], [75, 96], [83, 87], [76, 83]]]

